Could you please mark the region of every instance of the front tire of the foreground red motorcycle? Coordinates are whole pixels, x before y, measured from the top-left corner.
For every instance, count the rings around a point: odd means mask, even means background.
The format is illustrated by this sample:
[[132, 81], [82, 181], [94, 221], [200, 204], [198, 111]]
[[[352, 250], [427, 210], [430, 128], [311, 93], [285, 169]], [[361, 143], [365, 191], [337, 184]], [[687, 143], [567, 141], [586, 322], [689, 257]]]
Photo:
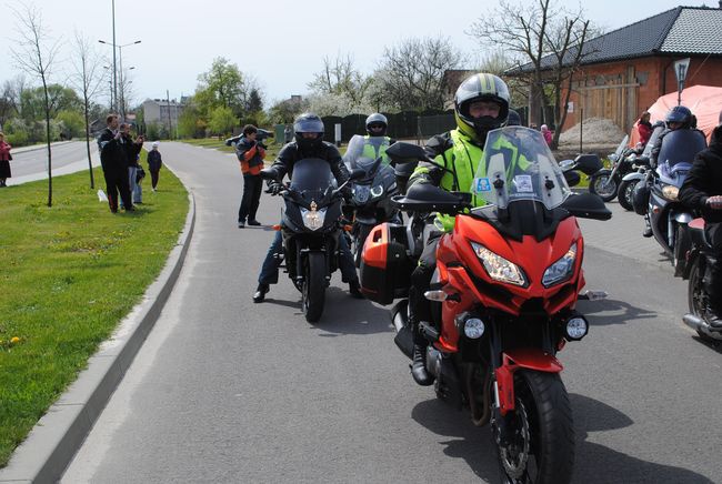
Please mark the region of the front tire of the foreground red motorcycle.
[[[507, 446], [492, 419], [501, 482], [564, 484], [574, 467], [574, 425], [566, 389], [558, 373], [520, 370], [514, 375], [515, 410]], [[532, 462], [533, 461], [533, 462]]]

